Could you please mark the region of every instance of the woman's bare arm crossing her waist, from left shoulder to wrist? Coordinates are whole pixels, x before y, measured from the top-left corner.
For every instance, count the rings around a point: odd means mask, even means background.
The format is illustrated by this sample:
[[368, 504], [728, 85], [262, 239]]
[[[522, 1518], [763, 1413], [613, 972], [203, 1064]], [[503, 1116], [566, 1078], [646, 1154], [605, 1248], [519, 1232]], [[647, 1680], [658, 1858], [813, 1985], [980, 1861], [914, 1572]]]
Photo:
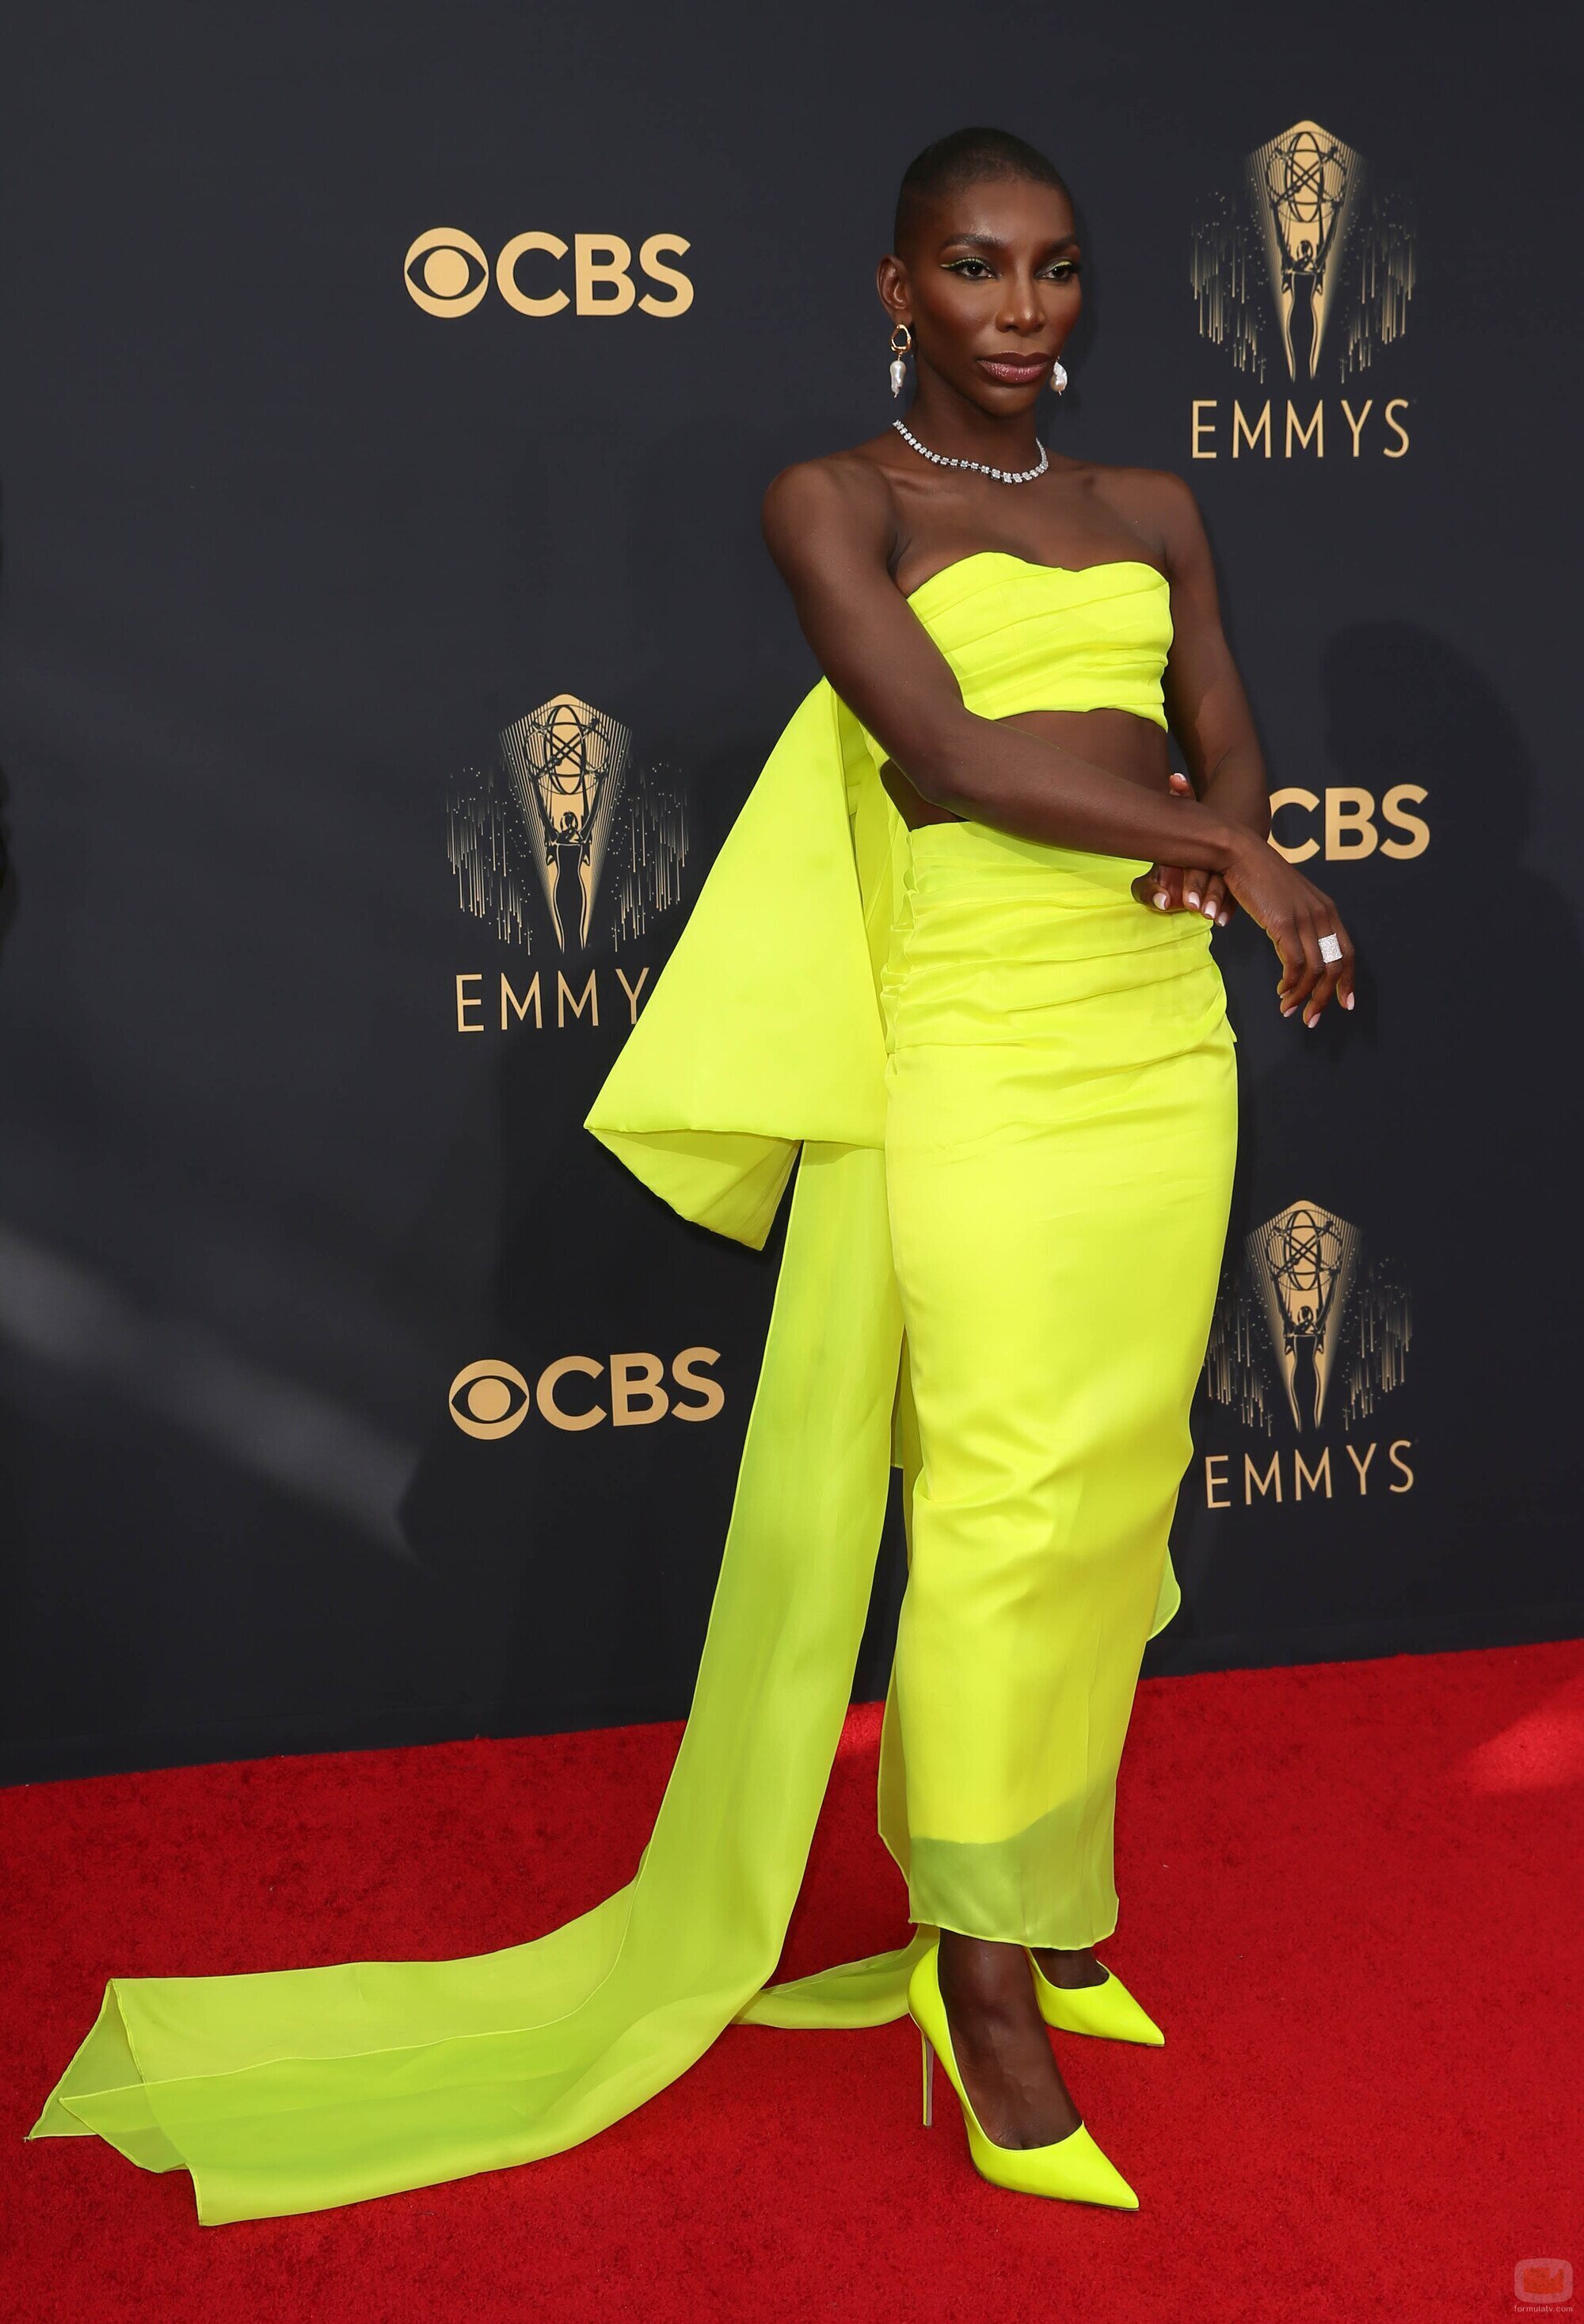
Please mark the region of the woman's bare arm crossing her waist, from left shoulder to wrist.
[[866, 460], [783, 469], [764, 495], [764, 541], [820, 669], [924, 799], [1096, 855], [1224, 871], [1247, 846], [1247, 827], [1198, 799], [1150, 792], [964, 704], [952, 665], [890, 576], [894, 514]]

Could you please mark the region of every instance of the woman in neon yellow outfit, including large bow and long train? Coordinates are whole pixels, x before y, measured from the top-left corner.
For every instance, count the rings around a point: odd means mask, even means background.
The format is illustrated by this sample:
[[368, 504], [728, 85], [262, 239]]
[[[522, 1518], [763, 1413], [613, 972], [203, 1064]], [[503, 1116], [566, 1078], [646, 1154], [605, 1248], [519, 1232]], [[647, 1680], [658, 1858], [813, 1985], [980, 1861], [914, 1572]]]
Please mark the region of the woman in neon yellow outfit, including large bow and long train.
[[[111, 1980], [35, 2136], [190, 2171], [204, 2222], [557, 2152], [732, 2022], [908, 2010], [985, 2178], [1136, 2205], [1045, 2024], [1159, 2040], [1092, 1945], [1138, 1662], [1178, 1606], [1231, 1188], [1210, 925], [1259, 920], [1305, 1025], [1352, 1006], [1352, 946], [1266, 841], [1189, 495], [1036, 442], [1080, 304], [1050, 163], [994, 130], [929, 146], [880, 297], [915, 363], [906, 437], [787, 469], [764, 507], [827, 676], [588, 1118], [757, 1246], [797, 1169], [653, 1836], [625, 1889], [506, 1952]], [[880, 1829], [915, 1936], [771, 1985], [892, 1459], [910, 1573]]]

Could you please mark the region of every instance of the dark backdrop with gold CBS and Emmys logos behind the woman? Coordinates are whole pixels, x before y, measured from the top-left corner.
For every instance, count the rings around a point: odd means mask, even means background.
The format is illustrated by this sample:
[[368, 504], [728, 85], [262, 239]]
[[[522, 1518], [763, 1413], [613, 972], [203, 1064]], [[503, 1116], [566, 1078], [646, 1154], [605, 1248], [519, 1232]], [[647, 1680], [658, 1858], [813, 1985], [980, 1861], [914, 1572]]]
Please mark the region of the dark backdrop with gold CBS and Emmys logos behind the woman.
[[[5, 1771], [685, 1710], [776, 1250], [578, 1127], [813, 681], [927, 139], [1201, 497], [1352, 1020], [1240, 1034], [1147, 1671], [1579, 1629], [1579, 370], [1545, 19], [37, 12], [5, 297]], [[859, 1694], [899, 1594], [883, 1548]]]

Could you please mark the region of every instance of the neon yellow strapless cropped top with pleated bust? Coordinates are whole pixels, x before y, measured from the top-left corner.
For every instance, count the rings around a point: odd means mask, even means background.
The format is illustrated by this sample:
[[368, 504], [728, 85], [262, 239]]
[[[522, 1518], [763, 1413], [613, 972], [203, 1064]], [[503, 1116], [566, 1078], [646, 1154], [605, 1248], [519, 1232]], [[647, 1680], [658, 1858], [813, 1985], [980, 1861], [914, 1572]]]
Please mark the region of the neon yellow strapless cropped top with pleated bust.
[[[1131, 711], [1166, 725], [1171, 586], [1154, 565], [1031, 565], [1006, 548], [957, 558], [908, 604], [978, 718]], [[864, 730], [876, 767], [885, 751]]]

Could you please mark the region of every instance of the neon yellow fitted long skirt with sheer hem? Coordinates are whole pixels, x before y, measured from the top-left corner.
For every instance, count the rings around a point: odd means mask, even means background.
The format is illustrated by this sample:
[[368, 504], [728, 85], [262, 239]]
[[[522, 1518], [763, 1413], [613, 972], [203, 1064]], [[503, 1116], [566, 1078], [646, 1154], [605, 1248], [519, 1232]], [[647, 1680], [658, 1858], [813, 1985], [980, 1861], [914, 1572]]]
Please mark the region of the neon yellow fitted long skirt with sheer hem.
[[913, 1920], [1117, 1924], [1117, 1764], [1236, 1155], [1210, 923], [1138, 865], [927, 825], [880, 978], [917, 1422], [880, 1829]]

